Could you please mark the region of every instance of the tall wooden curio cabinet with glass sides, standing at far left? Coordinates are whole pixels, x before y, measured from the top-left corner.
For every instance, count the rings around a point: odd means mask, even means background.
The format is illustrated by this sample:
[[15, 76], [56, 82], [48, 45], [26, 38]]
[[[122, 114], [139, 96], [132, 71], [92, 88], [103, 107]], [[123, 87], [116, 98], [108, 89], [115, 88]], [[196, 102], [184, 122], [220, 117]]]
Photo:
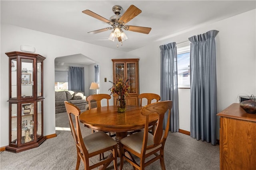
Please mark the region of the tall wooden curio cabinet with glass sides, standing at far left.
[[24, 52], [9, 57], [9, 145], [10, 152], [22, 152], [41, 145], [43, 135], [43, 61], [45, 57]]

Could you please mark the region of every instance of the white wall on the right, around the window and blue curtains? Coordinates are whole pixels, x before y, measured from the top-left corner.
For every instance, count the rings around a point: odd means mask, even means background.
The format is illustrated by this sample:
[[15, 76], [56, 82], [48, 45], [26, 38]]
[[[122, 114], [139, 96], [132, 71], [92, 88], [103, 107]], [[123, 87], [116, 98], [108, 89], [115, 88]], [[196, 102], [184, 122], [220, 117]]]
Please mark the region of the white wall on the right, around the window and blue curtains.
[[[175, 23], [174, 23], [175, 24]], [[220, 112], [238, 103], [239, 94], [256, 94], [256, 12], [255, 10], [231, 18], [184, 30], [166, 39], [131, 51], [140, 57], [140, 93], [160, 94], [160, 45], [182, 43], [188, 37], [216, 29], [217, 86]], [[180, 129], [190, 131], [190, 92], [179, 89]], [[219, 123], [217, 122], [217, 129]], [[218, 130], [217, 130], [218, 135]]]

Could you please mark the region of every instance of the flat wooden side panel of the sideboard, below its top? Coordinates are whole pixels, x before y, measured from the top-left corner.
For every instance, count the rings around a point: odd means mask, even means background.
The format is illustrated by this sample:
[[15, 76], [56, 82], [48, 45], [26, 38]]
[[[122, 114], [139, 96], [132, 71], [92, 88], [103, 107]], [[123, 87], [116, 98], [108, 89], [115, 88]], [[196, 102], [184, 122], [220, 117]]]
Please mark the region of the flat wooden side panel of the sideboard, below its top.
[[255, 168], [256, 123], [224, 117], [223, 134], [224, 169], [236, 167], [242, 170], [251, 169], [253, 166]]

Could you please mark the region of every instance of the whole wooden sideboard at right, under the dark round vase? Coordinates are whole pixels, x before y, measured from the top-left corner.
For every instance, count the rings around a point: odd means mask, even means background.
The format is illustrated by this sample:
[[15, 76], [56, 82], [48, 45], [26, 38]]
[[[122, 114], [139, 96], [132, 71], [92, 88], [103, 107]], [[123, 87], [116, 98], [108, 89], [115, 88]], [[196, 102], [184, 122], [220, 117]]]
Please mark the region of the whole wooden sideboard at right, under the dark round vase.
[[256, 114], [234, 103], [220, 116], [220, 170], [256, 169]]

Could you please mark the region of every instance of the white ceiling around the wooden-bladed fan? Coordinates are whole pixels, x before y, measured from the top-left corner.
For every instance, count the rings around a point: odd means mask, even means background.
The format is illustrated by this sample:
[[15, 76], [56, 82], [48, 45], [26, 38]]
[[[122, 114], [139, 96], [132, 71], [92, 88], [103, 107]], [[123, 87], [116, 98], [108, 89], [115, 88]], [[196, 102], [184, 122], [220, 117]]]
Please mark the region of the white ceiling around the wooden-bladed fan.
[[[149, 34], [125, 31], [128, 39], [124, 41], [123, 46], [119, 44], [117, 48], [117, 41], [108, 40], [110, 30], [98, 34], [87, 33], [110, 25], [83, 14], [83, 10], [91, 10], [109, 20], [110, 16], [114, 15], [114, 5], [122, 6], [122, 15], [131, 4], [142, 10], [142, 13], [127, 24], [151, 27]], [[223, 20], [255, 8], [255, 0], [1, 0], [1, 23], [120, 51], [132, 51], [153, 41], [166, 39], [180, 31]]]

